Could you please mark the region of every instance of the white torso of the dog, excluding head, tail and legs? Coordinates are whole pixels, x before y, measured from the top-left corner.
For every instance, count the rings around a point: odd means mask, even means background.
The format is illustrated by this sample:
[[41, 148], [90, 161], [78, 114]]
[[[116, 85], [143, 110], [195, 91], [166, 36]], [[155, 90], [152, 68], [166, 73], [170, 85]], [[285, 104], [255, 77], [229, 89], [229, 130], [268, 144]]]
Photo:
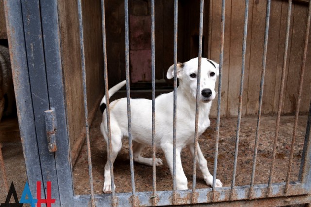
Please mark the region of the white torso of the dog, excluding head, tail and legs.
[[[173, 92], [162, 94], [155, 98], [155, 144], [173, 144]], [[190, 107], [188, 102], [179, 97], [177, 107], [177, 138], [178, 143], [186, 145], [192, 141], [195, 123], [195, 104]], [[211, 103], [206, 104], [211, 105]], [[133, 140], [145, 144], [152, 144], [152, 102], [149, 99], [131, 99], [131, 132]], [[121, 98], [110, 103], [111, 133], [128, 136], [127, 100]], [[209, 119], [200, 122], [199, 134], [209, 126]], [[102, 133], [107, 132], [106, 111], [103, 113]], [[165, 140], [163, 140], [165, 138]]]

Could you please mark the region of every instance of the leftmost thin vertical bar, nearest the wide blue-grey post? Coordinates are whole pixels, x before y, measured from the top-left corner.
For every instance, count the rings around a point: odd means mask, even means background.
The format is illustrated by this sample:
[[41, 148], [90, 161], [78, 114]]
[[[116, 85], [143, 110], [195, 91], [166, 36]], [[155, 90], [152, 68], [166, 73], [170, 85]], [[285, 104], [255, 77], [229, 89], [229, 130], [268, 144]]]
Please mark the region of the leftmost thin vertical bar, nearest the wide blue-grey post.
[[86, 89], [86, 67], [85, 67], [85, 53], [83, 42], [83, 22], [82, 22], [82, 5], [81, 0], [78, 0], [78, 15], [79, 15], [79, 32], [80, 32], [80, 50], [81, 50], [81, 67], [82, 67], [82, 83], [83, 83], [83, 99], [84, 99], [84, 115], [86, 124], [86, 143], [87, 143], [87, 161], [88, 161], [88, 174], [89, 183], [91, 187], [91, 204], [95, 207], [94, 185], [93, 185], [93, 172], [92, 172], [92, 158], [91, 158], [91, 144], [89, 140], [89, 123], [88, 123], [88, 108], [87, 108], [87, 89]]

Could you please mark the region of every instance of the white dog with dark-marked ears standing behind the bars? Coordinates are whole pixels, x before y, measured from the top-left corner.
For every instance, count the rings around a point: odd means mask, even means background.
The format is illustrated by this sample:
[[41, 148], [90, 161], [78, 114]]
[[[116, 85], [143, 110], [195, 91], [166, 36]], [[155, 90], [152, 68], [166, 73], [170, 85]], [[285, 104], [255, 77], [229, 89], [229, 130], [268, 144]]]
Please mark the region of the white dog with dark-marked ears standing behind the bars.
[[[174, 65], [168, 69], [166, 74], [168, 79], [173, 78], [173, 69]], [[194, 153], [197, 71], [198, 58], [177, 64], [179, 86], [177, 88], [176, 187], [178, 190], [188, 189], [187, 178], [181, 165], [181, 150], [187, 146], [192, 156]], [[201, 135], [210, 125], [208, 116], [212, 100], [216, 96], [215, 84], [218, 71], [219, 64], [202, 58], [198, 135]], [[123, 81], [112, 87], [109, 90], [109, 98], [124, 86], [125, 83]], [[105, 103], [106, 99], [104, 96], [101, 102], [102, 111], [104, 111]], [[152, 166], [152, 158], [144, 158], [140, 156], [140, 153], [146, 145], [152, 144], [151, 117], [151, 100], [131, 99], [133, 159], [136, 162], [150, 166]], [[121, 98], [110, 103], [110, 124], [112, 162], [114, 162], [122, 147], [122, 137], [128, 136], [126, 98]], [[108, 143], [106, 111], [103, 113], [101, 132]], [[162, 94], [155, 98], [155, 146], [161, 147], [164, 151], [166, 161], [173, 175], [173, 92]], [[213, 176], [208, 171], [207, 161], [199, 145], [197, 147], [197, 163], [206, 184], [211, 186]], [[159, 166], [161, 164], [162, 160], [156, 158], [155, 165]], [[221, 181], [216, 179], [216, 187], [222, 187], [222, 185]], [[109, 159], [105, 165], [103, 192], [111, 193]]]

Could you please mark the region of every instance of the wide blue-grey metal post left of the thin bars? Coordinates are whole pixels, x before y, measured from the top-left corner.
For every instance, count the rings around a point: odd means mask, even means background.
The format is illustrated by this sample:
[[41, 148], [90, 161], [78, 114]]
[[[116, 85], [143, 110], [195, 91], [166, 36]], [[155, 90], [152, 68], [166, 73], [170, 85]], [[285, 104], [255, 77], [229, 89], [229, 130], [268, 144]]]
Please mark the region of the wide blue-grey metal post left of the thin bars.
[[[4, 0], [17, 113], [27, 179], [33, 195], [47, 181], [56, 206], [71, 206], [69, 153], [57, 0]], [[37, 96], [37, 97], [36, 97]], [[55, 108], [57, 151], [49, 152], [44, 111]], [[42, 120], [43, 118], [43, 120]]]

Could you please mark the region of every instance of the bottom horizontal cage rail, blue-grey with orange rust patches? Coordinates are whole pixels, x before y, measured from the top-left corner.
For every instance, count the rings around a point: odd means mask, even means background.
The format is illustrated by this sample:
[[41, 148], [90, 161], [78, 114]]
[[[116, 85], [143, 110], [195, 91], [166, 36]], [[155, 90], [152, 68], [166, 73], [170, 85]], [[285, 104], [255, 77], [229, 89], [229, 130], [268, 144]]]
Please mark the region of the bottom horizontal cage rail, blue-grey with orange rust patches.
[[[220, 206], [225, 206], [225, 203], [220, 202], [227, 202], [230, 203], [231, 206], [236, 205], [236, 202], [239, 201], [247, 201], [250, 204], [256, 204], [255, 206], [266, 206], [271, 205], [272, 203], [268, 202], [272, 198], [278, 198], [283, 201], [283, 205], [289, 205], [291, 202], [296, 202], [298, 197], [306, 197], [309, 200], [311, 200], [311, 197], [309, 196], [310, 191], [308, 191], [305, 188], [305, 184], [302, 183], [296, 183], [295, 185], [290, 185], [291, 191], [289, 191], [288, 195], [285, 195], [284, 193], [284, 185], [282, 183], [275, 183], [272, 185], [272, 192], [273, 196], [271, 198], [266, 198], [266, 187], [267, 184], [259, 184], [254, 186], [254, 199], [248, 200], [248, 189], [249, 185], [245, 186], [236, 186], [234, 188], [234, 194], [238, 195], [238, 197], [235, 198], [235, 202], [230, 201], [229, 194], [231, 191], [231, 187], [222, 187], [222, 188], [216, 188], [216, 193], [219, 196], [216, 196], [216, 199], [213, 204], [210, 203], [210, 195], [212, 192], [211, 188], [205, 188], [205, 189], [197, 189], [197, 199], [193, 202], [191, 199], [192, 190], [182, 190], [177, 191], [178, 197], [176, 199], [176, 203], [174, 204], [172, 201], [173, 191], [157, 191], [157, 199], [155, 206], [169, 206], [169, 205], [192, 205], [192, 206], [200, 206], [200, 205], [193, 205], [193, 204], [202, 204], [207, 205], [211, 204], [211, 206], [215, 206], [218, 202]], [[96, 202], [101, 204], [101, 206], [111, 206], [111, 199], [110, 196], [107, 196], [105, 194], [101, 195], [95, 195], [96, 196]], [[132, 205], [132, 193], [118, 193], [118, 206], [131, 206]], [[136, 192], [137, 200], [139, 201], [139, 206], [152, 206], [153, 203], [150, 199], [152, 196], [152, 192]], [[291, 196], [290, 199], [288, 196]], [[255, 200], [257, 199], [257, 200]], [[309, 201], [308, 200], [308, 201]], [[90, 195], [78, 195], [74, 197], [74, 207], [85, 207], [90, 201]], [[298, 203], [298, 202], [297, 202]], [[202, 206], [201, 205], [201, 206]], [[229, 206], [230, 206], [229, 205]], [[239, 206], [239, 205], [237, 205]]]

